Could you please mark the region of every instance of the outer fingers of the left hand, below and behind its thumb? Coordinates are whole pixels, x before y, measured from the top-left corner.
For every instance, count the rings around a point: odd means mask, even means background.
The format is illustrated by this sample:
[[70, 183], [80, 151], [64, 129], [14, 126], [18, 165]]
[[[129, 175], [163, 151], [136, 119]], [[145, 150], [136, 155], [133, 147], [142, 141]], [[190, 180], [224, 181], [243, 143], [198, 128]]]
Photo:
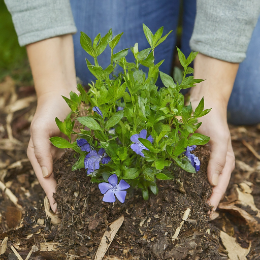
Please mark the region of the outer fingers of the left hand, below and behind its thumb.
[[49, 199], [52, 211], [54, 213], [56, 213], [57, 206], [53, 199], [53, 193], [56, 192], [56, 185], [57, 185], [56, 180], [54, 179], [53, 174], [47, 179], [43, 177], [41, 166], [39, 165], [38, 160], [35, 156], [35, 150], [34, 150], [34, 145], [32, 143], [32, 139], [30, 139], [30, 141], [29, 141], [29, 145], [28, 145], [28, 149], [27, 149], [27, 156], [30, 160], [32, 168], [34, 168], [34, 171], [39, 180], [39, 183], [41, 184], [42, 188], [44, 189], [44, 191]]

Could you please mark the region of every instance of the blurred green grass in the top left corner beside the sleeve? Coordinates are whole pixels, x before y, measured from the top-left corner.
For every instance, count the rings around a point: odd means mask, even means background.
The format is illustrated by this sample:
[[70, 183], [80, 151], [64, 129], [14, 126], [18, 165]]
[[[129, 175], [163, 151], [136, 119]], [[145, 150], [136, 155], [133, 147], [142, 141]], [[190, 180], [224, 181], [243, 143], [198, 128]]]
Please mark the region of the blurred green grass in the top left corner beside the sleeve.
[[18, 44], [4, 0], [0, 0], [0, 17], [0, 82], [11, 76], [18, 85], [32, 85], [26, 49]]

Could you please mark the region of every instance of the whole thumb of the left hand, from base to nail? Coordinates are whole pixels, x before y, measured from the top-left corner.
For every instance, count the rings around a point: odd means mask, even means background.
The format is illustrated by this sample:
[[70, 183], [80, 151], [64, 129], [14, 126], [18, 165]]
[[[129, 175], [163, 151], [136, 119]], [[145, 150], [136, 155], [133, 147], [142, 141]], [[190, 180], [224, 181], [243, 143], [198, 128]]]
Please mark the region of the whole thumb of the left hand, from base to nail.
[[32, 128], [31, 133], [35, 157], [41, 167], [43, 177], [47, 178], [52, 174], [53, 166], [52, 145], [49, 136], [45, 135], [43, 129], [38, 128]]

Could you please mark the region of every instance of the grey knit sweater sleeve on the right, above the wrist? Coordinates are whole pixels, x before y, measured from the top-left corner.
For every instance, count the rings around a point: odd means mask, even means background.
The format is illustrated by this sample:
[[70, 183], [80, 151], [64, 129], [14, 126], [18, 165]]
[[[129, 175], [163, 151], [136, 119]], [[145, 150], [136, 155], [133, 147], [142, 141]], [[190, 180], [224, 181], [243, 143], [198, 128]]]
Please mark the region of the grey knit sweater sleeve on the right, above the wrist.
[[242, 62], [260, 12], [259, 0], [197, 0], [193, 51]]

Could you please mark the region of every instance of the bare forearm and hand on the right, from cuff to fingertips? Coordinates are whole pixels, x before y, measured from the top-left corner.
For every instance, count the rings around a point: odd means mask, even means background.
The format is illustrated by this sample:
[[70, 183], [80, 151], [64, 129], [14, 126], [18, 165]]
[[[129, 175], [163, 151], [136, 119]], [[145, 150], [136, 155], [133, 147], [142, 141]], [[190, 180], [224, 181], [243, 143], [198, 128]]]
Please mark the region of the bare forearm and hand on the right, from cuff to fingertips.
[[214, 187], [208, 203], [213, 206], [213, 211], [224, 196], [235, 168], [226, 110], [238, 67], [238, 63], [218, 60], [200, 53], [194, 61], [194, 78], [206, 80], [191, 89], [192, 109], [198, 106], [203, 97], [204, 108], [212, 108], [209, 114], [199, 118], [202, 125], [198, 132], [210, 137], [211, 154], [207, 174]]

